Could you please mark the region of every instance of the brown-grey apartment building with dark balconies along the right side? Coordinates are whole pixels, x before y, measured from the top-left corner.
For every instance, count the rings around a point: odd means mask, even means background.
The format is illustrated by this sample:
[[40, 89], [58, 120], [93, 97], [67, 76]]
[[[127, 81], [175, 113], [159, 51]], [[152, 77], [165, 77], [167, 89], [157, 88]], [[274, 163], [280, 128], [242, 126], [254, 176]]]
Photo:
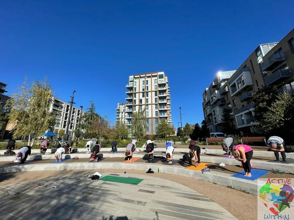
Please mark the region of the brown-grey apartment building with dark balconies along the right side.
[[294, 94], [294, 29], [278, 43], [259, 45], [223, 85], [216, 87], [220, 96], [216, 97], [215, 105], [205, 98], [214, 84], [203, 92], [203, 112], [210, 131], [222, 131], [221, 114], [219, 123], [210, 117], [213, 113], [217, 116], [218, 112], [213, 112], [213, 109], [218, 104], [218, 110], [232, 109], [237, 129], [257, 131], [253, 120], [254, 93], [264, 86], [273, 86], [278, 92], [288, 90]]

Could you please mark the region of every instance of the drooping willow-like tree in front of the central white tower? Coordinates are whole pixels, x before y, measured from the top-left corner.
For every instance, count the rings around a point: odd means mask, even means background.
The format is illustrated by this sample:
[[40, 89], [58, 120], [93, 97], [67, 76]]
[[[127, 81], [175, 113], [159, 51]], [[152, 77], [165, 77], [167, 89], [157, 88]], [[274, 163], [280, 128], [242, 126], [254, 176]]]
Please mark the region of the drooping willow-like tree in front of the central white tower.
[[138, 110], [137, 112], [133, 113], [132, 117], [132, 125], [131, 125], [131, 132], [134, 138], [137, 141], [145, 136], [146, 130], [146, 111]]

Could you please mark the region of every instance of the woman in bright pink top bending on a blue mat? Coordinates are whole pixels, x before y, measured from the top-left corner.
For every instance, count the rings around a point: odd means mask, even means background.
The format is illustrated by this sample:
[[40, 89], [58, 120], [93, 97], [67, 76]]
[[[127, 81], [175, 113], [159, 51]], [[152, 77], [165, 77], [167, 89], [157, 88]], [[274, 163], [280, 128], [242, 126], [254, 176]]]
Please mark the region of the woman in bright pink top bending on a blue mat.
[[[235, 146], [232, 155], [236, 160], [242, 162], [243, 169], [245, 170], [245, 177], [251, 177], [250, 160], [253, 156], [253, 150], [248, 145], [239, 144]], [[239, 158], [240, 157], [240, 158]]]

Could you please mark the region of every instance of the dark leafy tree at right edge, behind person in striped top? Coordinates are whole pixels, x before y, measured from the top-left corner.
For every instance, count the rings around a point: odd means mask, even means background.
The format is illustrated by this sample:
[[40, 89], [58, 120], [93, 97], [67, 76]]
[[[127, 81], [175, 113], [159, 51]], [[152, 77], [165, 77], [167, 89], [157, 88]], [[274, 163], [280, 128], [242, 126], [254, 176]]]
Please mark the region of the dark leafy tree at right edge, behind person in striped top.
[[254, 95], [254, 120], [258, 128], [272, 135], [293, 134], [294, 98], [288, 91], [277, 93], [271, 87], [260, 89]]

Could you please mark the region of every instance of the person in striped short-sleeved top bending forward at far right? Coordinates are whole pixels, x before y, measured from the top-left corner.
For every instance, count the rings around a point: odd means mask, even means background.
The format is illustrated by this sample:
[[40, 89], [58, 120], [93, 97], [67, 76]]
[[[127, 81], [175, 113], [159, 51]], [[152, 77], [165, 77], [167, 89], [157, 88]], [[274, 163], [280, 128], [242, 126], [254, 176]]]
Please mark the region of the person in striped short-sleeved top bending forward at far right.
[[273, 151], [276, 157], [275, 162], [280, 162], [279, 160], [279, 152], [282, 156], [282, 162], [286, 161], [286, 154], [285, 154], [285, 143], [284, 140], [278, 136], [271, 136], [268, 138], [266, 145], [269, 147], [269, 150]]

